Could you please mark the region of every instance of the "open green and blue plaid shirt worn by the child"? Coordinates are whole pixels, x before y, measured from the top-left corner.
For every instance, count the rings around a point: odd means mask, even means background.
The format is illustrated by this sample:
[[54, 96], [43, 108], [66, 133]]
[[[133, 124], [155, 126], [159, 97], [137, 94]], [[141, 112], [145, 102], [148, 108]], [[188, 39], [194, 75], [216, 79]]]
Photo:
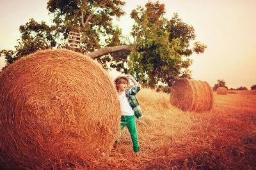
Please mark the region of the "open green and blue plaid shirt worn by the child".
[[126, 94], [128, 96], [128, 101], [129, 104], [132, 108], [132, 110], [134, 111], [134, 115], [136, 116], [136, 118], [142, 118], [142, 111], [140, 108], [140, 104], [138, 103], [138, 100], [136, 98], [136, 94], [140, 91], [140, 86], [136, 86], [132, 89], [127, 89], [126, 90]]

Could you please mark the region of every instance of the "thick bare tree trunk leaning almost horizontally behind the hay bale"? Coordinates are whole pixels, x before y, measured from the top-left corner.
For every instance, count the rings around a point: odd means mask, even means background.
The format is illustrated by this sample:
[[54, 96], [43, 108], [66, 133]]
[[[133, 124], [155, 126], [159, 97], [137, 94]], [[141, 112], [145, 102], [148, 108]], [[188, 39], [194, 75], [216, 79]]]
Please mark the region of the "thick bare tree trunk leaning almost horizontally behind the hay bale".
[[97, 57], [106, 55], [108, 53], [120, 52], [120, 51], [125, 51], [125, 50], [131, 51], [131, 46], [130, 45], [109, 46], [109, 47], [100, 48], [99, 50], [88, 53], [86, 55], [88, 55], [92, 59], [95, 59]]

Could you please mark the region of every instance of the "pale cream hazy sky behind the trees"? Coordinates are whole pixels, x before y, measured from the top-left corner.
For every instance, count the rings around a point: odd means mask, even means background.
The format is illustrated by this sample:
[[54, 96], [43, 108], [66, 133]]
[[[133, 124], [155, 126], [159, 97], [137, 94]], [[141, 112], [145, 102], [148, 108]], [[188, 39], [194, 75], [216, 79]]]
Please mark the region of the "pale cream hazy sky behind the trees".
[[[129, 36], [133, 24], [129, 14], [147, 0], [127, 0], [126, 15], [118, 24]], [[156, 1], [152, 1], [156, 2]], [[238, 88], [256, 85], [256, 1], [255, 0], [160, 0], [170, 20], [178, 13], [183, 22], [193, 25], [196, 41], [207, 45], [205, 52], [190, 58], [192, 78], [207, 81], [212, 87], [224, 80], [227, 87]], [[0, 1], [0, 50], [15, 50], [20, 38], [19, 26], [34, 18], [51, 25], [47, 0]], [[4, 66], [0, 57], [0, 69]]]

